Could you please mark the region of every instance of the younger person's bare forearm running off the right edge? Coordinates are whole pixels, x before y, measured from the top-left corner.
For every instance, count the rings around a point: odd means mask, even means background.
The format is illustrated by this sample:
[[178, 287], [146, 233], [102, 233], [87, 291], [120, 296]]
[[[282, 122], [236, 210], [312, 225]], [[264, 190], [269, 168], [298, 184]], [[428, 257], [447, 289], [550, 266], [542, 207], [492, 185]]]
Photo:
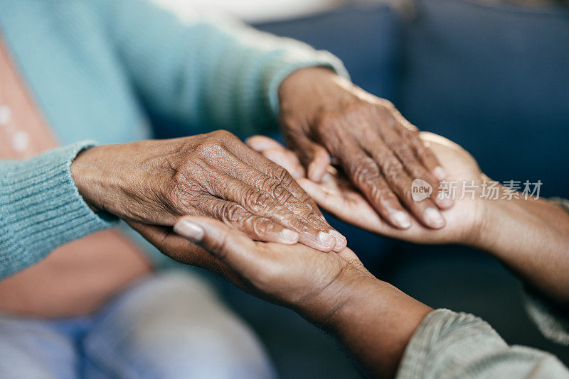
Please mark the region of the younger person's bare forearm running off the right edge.
[[529, 285], [569, 303], [569, 213], [546, 199], [489, 200], [475, 246]]

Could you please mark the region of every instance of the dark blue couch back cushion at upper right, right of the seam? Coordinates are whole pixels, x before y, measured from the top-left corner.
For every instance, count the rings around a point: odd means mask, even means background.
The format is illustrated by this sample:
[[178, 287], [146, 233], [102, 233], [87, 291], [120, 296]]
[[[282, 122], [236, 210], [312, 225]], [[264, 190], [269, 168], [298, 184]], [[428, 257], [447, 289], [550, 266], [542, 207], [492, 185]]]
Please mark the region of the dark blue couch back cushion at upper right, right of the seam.
[[496, 180], [569, 197], [569, 10], [417, 0], [396, 104]]

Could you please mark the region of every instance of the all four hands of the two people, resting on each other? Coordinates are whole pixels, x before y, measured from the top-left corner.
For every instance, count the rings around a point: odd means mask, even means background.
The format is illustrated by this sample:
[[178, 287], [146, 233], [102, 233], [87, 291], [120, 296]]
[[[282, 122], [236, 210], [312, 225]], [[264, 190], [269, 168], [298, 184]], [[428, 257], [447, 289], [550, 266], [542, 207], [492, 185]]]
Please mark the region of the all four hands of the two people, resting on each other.
[[[332, 294], [347, 288], [341, 278], [373, 276], [314, 199], [388, 236], [437, 242], [469, 233], [472, 223], [454, 218], [474, 219], [476, 210], [461, 214], [461, 207], [437, 197], [439, 181], [454, 165], [477, 169], [464, 150], [437, 158], [445, 153], [433, 152], [433, 141], [421, 139], [393, 104], [324, 68], [289, 75], [279, 96], [291, 150], [258, 136], [248, 146], [227, 131], [102, 145], [71, 165], [79, 192], [171, 258], [273, 301], [323, 312], [318, 317], [339, 298]], [[345, 176], [331, 173], [331, 163]], [[413, 201], [415, 178], [431, 185], [431, 197]], [[331, 285], [338, 282], [344, 284]], [[312, 301], [323, 306], [307, 307]]]

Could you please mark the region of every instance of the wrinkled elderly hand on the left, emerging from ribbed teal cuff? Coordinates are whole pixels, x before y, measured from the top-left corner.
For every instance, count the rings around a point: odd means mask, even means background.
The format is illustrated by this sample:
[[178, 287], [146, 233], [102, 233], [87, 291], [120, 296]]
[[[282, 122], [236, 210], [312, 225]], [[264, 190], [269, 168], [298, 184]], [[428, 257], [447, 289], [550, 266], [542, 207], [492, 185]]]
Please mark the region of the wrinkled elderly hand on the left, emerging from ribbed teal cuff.
[[180, 216], [208, 216], [255, 240], [346, 246], [286, 170], [227, 131], [97, 146], [71, 172], [90, 206], [122, 219], [171, 226]]

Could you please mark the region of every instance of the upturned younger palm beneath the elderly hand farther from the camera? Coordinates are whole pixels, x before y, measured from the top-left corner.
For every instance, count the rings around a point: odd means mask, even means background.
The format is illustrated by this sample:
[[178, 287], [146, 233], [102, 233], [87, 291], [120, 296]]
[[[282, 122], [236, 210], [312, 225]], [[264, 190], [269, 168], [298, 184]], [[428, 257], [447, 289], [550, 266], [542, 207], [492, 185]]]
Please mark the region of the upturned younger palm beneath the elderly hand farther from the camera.
[[[349, 181], [334, 167], [329, 167], [321, 182], [315, 183], [300, 175], [297, 181], [304, 190], [313, 197], [320, 207], [363, 229], [378, 234], [400, 238], [418, 243], [452, 243], [464, 241], [476, 228], [477, 213], [480, 212], [478, 195], [471, 199], [467, 194], [460, 199], [462, 182], [470, 185], [472, 180], [480, 183], [484, 175], [480, 171], [476, 160], [466, 150], [456, 143], [432, 133], [421, 133], [421, 138], [431, 145], [433, 153], [437, 156], [447, 172], [447, 181], [457, 185], [457, 197], [454, 207], [442, 211], [447, 220], [447, 226], [439, 230], [427, 229], [418, 221], [413, 220], [407, 230], [395, 229], [383, 221], [373, 207], [363, 196], [353, 188]], [[285, 167], [289, 172], [299, 172], [299, 163], [294, 155], [287, 152], [275, 141], [270, 143], [266, 137], [255, 136], [248, 141], [255, 150], [259, 150], [267, 158]], [[265, 147], [265, 148], [262, 148]], [[268, 148], [267, 148], [268, 147]]]

